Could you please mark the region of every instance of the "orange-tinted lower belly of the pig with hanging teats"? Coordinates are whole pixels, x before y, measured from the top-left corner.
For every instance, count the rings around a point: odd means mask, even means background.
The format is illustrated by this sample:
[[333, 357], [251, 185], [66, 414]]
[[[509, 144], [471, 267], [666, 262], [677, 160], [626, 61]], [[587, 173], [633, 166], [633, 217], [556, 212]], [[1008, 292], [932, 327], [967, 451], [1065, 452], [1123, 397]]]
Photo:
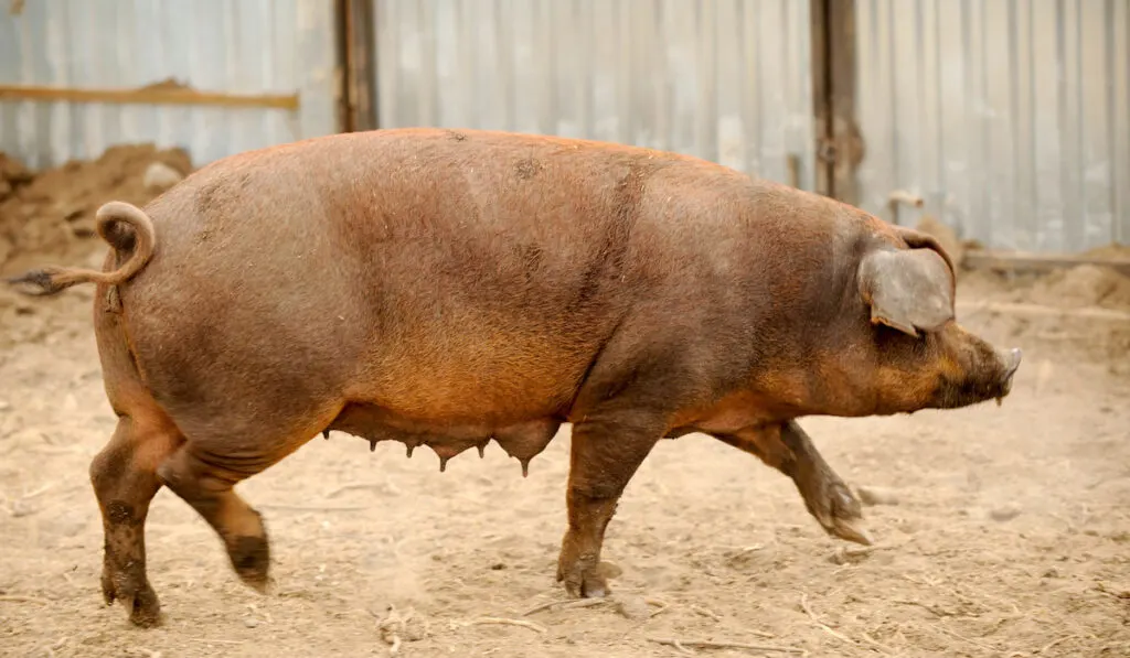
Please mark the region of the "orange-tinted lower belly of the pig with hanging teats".
[[441, 466], [495, 440], [522, 463], [554, 438], [593, 352], [551, 337], [473, 333], [405, 341], [374, 354], [329, 430], [431, 447]]

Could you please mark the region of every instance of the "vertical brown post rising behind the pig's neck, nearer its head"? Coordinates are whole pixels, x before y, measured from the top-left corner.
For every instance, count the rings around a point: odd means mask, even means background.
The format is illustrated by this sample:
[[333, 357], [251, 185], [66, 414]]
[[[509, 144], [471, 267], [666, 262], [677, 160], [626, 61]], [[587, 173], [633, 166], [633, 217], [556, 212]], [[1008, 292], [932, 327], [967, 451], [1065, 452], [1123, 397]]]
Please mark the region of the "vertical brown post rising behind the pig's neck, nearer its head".
[[855, 122], [855, 0], [809, 0], [816, 191], [858, 203], [863, 139]]

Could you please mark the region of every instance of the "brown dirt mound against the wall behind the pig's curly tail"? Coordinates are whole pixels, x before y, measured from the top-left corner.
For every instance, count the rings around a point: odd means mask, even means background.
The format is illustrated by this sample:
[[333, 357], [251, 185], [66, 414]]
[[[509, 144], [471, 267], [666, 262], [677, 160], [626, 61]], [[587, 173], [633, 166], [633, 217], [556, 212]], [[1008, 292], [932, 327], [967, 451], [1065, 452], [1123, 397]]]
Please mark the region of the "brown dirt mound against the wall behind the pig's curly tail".
[[94, 213], [107, 201], [142, 205], [159, 191], [145, 185], [146, 168], [162, 163], [182, 175], [192, 170], [182, 149], [154, 144], [112, 147], [96, 160], [71, 160], [43, 172], [28, 172], [0, 153], [0, 270], [16, 258], [81, 258], [97, 248]]

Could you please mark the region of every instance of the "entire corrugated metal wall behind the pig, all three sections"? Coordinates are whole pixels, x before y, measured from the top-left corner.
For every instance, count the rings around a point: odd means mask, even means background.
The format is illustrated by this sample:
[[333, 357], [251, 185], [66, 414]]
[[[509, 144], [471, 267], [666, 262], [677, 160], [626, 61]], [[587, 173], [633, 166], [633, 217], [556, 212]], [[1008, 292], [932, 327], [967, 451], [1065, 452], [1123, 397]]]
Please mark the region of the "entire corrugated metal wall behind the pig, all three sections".
[[[375, 0], [379, 123], [635, 143], [812, 186], [803, 0]], [[1130, 242], [1130, 1], [855, 0], [860, 203], [996, 248]], [[0, 82], [301, 93], [302, 109], [0, 103], [42, 167], [121, 142], [202, 164], [337, 130], [329, 0], [36, 0]], [[797, 165], [791, 172], [790, 160]], [[920, 211], [901, 210], [901, 222]]]

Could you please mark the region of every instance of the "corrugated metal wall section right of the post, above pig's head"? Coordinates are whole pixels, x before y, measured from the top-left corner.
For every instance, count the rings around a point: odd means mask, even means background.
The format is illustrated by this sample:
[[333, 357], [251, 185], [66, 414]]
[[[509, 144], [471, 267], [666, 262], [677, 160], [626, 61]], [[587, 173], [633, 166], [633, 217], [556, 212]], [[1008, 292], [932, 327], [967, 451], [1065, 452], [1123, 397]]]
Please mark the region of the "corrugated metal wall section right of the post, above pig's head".
[[1130, 243], [1130, 1], [855, 7], [867, 210], [904, 188], [996, 248]]

